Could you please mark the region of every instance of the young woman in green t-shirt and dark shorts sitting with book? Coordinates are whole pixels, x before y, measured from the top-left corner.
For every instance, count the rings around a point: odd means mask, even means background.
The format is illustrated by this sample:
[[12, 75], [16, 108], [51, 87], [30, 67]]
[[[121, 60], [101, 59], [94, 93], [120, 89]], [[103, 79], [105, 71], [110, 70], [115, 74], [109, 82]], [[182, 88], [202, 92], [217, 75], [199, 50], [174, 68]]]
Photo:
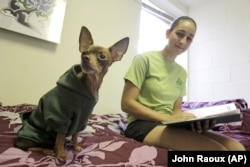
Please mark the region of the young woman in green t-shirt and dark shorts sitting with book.
[[181, 110], [186, 95], [186, 71], [175, 62], [186, 51], [196, 33], [196, 22], [182, 16], [166, 31], [168, 44], [161, 51], [135, 56], [125, 75], [121, 107], [128, 113], [127, 137], [173, 150], [245, 150], [236, 140], [212, 132], [215, 122], [172, 128], [163, 121], [194, 116]]

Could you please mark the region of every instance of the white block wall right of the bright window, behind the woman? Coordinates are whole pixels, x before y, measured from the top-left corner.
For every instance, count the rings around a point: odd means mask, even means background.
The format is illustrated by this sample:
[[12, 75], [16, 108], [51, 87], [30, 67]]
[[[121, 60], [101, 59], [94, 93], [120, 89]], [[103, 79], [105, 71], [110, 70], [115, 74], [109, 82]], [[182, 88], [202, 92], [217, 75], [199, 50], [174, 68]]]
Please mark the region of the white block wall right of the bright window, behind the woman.
[[189, 10], [198, 24], [189, 49], [189, 101], [250, 103], [249, 9], [249, 0], [210, 0]]

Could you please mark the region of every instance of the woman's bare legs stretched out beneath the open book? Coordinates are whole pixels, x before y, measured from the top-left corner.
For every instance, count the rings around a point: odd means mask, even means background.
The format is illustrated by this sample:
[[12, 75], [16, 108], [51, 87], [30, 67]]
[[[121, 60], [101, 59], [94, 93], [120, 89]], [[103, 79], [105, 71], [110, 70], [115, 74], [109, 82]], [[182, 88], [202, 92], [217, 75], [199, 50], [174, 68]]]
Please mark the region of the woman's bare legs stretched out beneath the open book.
[[[229, 150], [243, 149], [233, 139], [206, 132], [199, 134], [180, 128], [155, 127], [144, 139], [146, 144], [173, 150]], [[237, 143], [237, 144], [236, 144]], [[234, 146], [230, 146], [230, 145]]]

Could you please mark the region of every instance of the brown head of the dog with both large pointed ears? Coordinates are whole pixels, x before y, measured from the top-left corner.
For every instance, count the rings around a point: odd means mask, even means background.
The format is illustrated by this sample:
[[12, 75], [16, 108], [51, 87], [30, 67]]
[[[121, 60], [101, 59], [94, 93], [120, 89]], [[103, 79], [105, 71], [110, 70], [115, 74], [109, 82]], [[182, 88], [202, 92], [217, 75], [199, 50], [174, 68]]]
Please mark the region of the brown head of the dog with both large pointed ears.
[[105, 74], [113, 62], [122, 59], [127, 51], [128, 44], [129, 38], [126, 37], [108, 48], [94, 45], [90, 31], [83, 26], [79, 36], [83, 72], [97, 75]]

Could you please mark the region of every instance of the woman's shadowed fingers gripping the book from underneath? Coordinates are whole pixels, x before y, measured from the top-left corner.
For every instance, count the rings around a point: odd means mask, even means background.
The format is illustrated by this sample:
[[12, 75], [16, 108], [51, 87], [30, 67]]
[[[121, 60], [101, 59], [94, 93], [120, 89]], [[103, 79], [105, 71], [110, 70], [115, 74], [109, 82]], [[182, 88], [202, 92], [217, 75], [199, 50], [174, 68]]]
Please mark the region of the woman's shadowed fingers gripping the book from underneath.
[[208, 131], [209, 129], [214, 128], [215, 120], [205, 120], [203, 122], [197, 121], [197, 122], [191, 123], [190, 126], [193, 132], [204, 133]]

